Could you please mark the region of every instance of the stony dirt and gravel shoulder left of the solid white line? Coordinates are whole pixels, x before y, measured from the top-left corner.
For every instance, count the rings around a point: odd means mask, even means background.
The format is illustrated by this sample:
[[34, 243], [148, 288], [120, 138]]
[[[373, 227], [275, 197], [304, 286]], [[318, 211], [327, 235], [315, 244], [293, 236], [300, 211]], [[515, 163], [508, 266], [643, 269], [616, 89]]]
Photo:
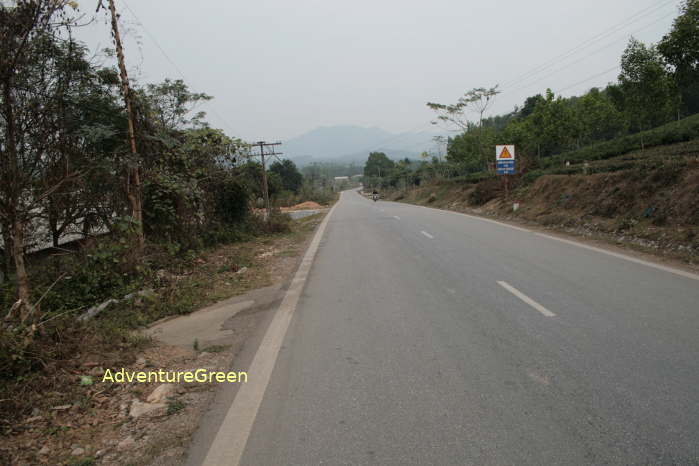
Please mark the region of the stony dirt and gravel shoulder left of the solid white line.
[[288, 233], [202, 254], [178, 283], [196, 285], [193, 293], [205, 299], [191, 298], [214, 304], [151, 326], [152, 340], [139, 337], [143, 347], [104, 353], [86, 341], [46, 382], [49, 389], [25, 395], [26, 415], [0, 436], [0, 464], [181, 463], [219, 384], [103, 383], [106, 370], [244, 371], [235, 366], [236, 355], [264, 311], [274, 308], [322, 218], [305, 217]]

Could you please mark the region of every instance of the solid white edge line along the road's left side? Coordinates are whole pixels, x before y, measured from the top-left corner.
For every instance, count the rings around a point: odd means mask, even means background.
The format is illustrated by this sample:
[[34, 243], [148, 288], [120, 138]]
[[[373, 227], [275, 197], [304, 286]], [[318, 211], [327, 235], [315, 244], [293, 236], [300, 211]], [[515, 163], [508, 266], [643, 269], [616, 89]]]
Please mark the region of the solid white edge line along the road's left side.
[[299, 265], [277, 313], [272, 318], [260, 347], [250, 364], [248, 373], [252, 374], [248, 383], [242, 384], [233, 400], [223, 423], [219, 427], [209, 452], [204, 459], [205, 466], [230, 465], [237, 466], [245, 451], [248, 437], [257, 417], [257, 411], [262, 404], [265, 390], [277, 362], [284, 336], [289, 328], [291, 317], [301, 297], [301, 292], [308, 279], [308, 273], [313, 264], [320, 240], [325, 232], [328, 220], [333, 214], [335, 204], [323, 219], [318, 231], [311, 241], [303, 261]]

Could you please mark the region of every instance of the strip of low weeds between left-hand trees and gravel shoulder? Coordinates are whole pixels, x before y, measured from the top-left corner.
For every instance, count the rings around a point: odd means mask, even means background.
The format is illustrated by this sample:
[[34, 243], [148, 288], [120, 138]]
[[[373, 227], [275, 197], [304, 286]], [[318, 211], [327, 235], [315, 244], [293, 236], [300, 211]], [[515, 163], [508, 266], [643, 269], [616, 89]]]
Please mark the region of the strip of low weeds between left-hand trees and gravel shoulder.
[[[135, 355], [151, 344], [148, 338], [133, 330], [163, 317], [187, 314], [207, 304], [268, 286], [272, 280], [269, 259], [291, 257], [286, 252], [296, 251], [318, 221], [318, 215], [291, 221], [288, 216], [275, 213], [269, 223], [260, 221], [258, 234], [249, 234], [247, 241], [200, 251], [178, 251], [174, 255], [168, 251], [168, 245], [151, 245], [148, 260], [144, 261], [148, 269], [129, 280], [124, 279], [122, 287], [114, 286], [107, 293], [95, 285], [96, 292], [103, 294], [89, 294], [91, 299], [81, 297], [80, 302], [75, 298], [80, 296], [77, 292], [68, 293], [67, 304], [57, 301], [59, 295], [52, 296], [52, 302], [59, 303], [62, 311], [48, 314], [50, 317], [41, 325], [39, 338], [22, 346], [23, 342], [12, 335], [0, 335], [0, 433], [16, 434], [19, 428], [16, 421], [31, 414], [36, 407], [48, 409], [45, 403], [60, 405], [79, 398], [78, 374], [84, 374], [81, 364], [86, 359], [99, 360], [103, 367], [121, 367], [133, 362]], [[95, 250], [104, 251], [105, 246], [97, 246], [92, 251]], [[111, 253], [100, 256], [99, 260], [109, 262], [119, 257], [118, 249], [108, 250]], [[74, 262], [76, 267], [79, 264], [72, 255], [61, 259]], [[55, 258], [45, 260], [45, 267], [55, 266], [52, 262]], [[66, 267], [65, 262], [63, 266]], [[90, 283], [113, 283], [112, 277], [120, 277], [118, 270], [118, 267], [108, 266], [98, 269], [96, 273], [100, 277]], [[78, 280], [72, 283], [76, 282]], [[85, 282], [80, 280], [79, 283]], [[88, 305], [141, 288], [154, 289], [154, 296], [113, 304], [85, 322], [76, 319]], [[65, 310], [78, 304], [77, 310]], [[18, 348], [21, 351], [18, 352]], [[207, 352], [223, 350], [204, 348]]]

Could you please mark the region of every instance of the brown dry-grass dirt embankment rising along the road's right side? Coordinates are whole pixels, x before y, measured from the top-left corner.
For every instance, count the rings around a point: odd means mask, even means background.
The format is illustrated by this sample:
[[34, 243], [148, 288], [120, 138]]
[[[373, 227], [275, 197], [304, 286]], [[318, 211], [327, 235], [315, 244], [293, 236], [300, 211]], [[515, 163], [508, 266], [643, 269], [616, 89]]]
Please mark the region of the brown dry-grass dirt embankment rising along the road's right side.
[[[633, 155], [619, 157], [613, 171], [547, 174], [530, 183], [513, 177], [507, 198], [499, 179], [437, 181], [391, 198], [543, 225], [699, 264], [699, 158], [633, 161]], [[622, 159], [625, 166], [618, 169]]]

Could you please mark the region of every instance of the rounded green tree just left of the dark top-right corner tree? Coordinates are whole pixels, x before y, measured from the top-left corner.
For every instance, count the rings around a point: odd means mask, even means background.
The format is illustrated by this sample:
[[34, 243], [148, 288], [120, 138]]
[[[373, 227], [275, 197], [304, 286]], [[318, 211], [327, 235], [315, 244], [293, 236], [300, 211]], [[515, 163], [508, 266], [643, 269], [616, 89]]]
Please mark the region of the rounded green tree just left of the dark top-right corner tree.
[[679, 104], [676, 86], [657, 49], [634, 38], [621, 58], [619, 89], [634, 132], [670, 121]]

